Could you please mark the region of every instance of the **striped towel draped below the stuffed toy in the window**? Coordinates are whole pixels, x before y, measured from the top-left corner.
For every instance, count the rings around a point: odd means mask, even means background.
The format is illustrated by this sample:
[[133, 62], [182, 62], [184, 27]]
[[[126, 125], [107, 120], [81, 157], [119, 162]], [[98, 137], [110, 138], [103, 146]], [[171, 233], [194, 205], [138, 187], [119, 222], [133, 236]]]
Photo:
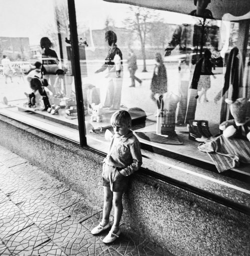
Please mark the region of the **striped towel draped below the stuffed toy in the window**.
[[250, 142], [247, 140], [220, 135], [199, 144], [198, 149], [209, 154], [218, 172], [230, 170], [240, 162], [250, 163]]

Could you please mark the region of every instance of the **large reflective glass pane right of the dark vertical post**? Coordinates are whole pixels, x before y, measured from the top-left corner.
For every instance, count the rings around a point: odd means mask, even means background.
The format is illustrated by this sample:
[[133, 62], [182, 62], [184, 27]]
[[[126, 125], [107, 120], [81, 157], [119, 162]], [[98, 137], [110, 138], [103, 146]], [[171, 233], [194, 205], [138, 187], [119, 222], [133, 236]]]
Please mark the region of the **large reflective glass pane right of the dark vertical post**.
[[247, 97], [250, 17], [215, 20], [209, 2], [197, 1], [184, 15], [75, 1], [89, 146], [106, 150], [110, 117], [124, 109], [143, 148], [214, 163], [197, 147], [232, 118], [225, 100]]

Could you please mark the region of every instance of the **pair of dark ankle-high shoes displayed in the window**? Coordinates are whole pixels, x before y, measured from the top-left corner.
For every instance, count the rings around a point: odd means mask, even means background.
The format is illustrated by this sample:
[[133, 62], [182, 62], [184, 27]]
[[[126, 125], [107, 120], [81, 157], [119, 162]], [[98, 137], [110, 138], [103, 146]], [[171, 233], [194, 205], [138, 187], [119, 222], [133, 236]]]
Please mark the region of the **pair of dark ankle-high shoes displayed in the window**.
[[189, 120], [187, 129], [189, 132], [188, 139], [204, 142], [212, 137], [209, 131], [208, 121], [206, 120]]

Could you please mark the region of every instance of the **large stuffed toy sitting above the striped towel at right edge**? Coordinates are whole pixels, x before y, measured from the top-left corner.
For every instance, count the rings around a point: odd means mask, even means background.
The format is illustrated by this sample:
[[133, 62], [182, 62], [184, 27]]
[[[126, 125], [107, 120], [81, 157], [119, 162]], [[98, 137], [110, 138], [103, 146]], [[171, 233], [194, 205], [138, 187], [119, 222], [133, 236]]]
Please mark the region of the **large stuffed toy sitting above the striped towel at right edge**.
[[250, 141], [250, 99], [238, 98], [230, 104], [230, 112], [234, 119], [219, 125], [226, 138], [248, 139]]

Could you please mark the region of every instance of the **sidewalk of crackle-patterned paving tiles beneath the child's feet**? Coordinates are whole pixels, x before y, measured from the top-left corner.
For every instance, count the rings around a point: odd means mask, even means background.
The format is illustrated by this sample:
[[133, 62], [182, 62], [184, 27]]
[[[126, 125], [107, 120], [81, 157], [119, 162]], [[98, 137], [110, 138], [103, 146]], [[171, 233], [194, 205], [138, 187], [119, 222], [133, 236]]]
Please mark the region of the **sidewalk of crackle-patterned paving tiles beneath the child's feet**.
[[[0, 255], [173, 255], [122, 225], [92, 235], [102, 208], [0, 146]], [[112, 217], [110, 217], [110, 222]]]

